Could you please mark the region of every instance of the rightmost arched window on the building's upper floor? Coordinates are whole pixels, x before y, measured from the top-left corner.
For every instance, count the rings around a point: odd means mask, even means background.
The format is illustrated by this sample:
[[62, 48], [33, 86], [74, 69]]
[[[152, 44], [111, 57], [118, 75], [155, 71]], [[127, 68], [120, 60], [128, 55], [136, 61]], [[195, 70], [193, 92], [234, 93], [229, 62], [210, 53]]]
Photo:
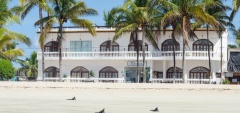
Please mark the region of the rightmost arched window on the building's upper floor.
[[213, 43], [207, 39], [199, 39], [193, 43], [193, 51], [208, 51], [208, 44], [210, 51], [213, 51]]

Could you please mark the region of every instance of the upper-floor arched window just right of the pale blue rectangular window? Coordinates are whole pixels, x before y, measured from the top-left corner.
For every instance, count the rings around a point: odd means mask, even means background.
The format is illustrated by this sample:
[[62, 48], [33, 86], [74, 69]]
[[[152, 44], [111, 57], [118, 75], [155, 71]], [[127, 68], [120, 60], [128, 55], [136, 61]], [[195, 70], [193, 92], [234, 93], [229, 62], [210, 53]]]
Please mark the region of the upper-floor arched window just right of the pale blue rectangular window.
[[111, 40], [105, 41], [100, 45], [100, 51], [119, 51], [119, 44], [111, 43]]

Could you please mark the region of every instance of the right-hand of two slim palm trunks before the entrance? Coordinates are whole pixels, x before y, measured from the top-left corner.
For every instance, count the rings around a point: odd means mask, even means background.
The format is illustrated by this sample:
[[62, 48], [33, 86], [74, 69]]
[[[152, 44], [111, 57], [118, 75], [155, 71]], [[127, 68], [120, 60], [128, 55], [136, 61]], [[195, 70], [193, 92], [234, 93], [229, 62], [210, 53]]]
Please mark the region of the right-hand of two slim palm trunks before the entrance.
[[143, 83], [146, 83], [145, 73], [145, 26], [142, 27]]

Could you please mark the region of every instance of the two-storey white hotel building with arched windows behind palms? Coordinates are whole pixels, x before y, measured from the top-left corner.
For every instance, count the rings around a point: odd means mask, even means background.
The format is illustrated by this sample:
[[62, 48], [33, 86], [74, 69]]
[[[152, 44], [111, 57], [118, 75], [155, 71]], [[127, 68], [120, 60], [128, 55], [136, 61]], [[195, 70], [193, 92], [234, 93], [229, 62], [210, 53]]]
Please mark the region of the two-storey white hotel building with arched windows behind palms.
[[[59, 58], [56, 42], [57, 30], [52, 29], [44, 46], [45, 80], [59, 79]], [[140, 52], [140, 67], [137, 75], [136, 52], [130, 42], [130, 33], [123, 34], [115, 43], [111, 39], [115, 34], [114, 28], [96, 27], [97, 35], [92, 36], [83, 28], [64, 28], [62, 42], [62, 75], [65, 81], [74, 82], [126, 82], [142, 81], [142, 53]], [[146, 41], [146, 68], [148, 80], [156, 83], [173, 82], [173, 52], [171, 30], [159, 36], [155, 50]], [[208, 83], [208, 43], [212, 63], [211, 82], [219, 83], [221, 78], [221, 39], [214, 30], [209, 31], [207, 40], [206, 29], [195, 31], [199, 39], [190, 40], [185, 52], [185, 70], [182, 71], [182, 38], [177, 38], [176, 47], [176, 82]], [[38, 32], [39, 34], [39, 32]], [[139, 35], [141, 42], [141, 34]], [[222, 34], [222, 70], [226, 71], [228, 33]], [[139, 45], [141, 46], [141, 44]], [[94, 77], [89, 78], [89, 72]], [[42, 80], [42, 52], [38, 52], [38, 80]], [[183, 79], [184, 78], [184, 79]]]

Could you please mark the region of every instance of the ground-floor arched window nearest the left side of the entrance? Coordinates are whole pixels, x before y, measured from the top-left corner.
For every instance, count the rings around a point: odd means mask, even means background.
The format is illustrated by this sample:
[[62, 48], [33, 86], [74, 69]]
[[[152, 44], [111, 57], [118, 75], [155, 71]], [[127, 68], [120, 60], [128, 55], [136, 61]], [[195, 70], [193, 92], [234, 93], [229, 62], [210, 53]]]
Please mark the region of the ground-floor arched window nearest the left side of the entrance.
[[113, 67], [105, 67], [99, 71], [99, 78], [118, 78], [118, 71]]

